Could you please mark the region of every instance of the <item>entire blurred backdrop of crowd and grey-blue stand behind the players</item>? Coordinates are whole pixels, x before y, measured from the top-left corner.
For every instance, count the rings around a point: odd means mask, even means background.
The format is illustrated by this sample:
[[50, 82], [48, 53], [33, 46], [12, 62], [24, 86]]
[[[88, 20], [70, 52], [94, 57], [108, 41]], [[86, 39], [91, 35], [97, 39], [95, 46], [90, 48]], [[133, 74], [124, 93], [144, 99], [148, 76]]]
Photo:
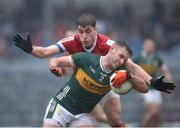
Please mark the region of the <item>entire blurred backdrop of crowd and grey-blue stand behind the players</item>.
[[[15, 33], [30, 33], [33, 45], [48, 46], [75, 29], [76, 18], [92, 13], [97, 27], [113, 40], [127, 40], [134, 54], [152, 37], [177, 88], [163, 94], [162, 123], [180, 126], [179, 0], [0, 0], [0, 126], [42, 126], [46, 105], [67, 81], [56, 78], [48, 59], [36, 59], [15, 47]], [[145, 109], [139, 93], [121, 96], [122, 118], [139, 124]]]

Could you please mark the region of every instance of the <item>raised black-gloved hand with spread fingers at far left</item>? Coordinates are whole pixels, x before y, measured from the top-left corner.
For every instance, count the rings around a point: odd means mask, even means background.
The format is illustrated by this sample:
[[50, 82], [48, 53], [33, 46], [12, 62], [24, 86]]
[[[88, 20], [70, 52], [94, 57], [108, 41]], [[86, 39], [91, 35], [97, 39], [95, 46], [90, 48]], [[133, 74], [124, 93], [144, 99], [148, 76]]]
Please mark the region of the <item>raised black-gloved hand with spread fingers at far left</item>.
[[32, 48], [32, 42], [31, 42], [31, 38], [29, 34], [27, 34], [26, 39], [23, 39], [19, 34], [16, 34], [13, 37], [13, 41], [15, 42], [15, 45], [19, 47], [20, 49], [22, 49], [23, 51], [27, 53], [32, 52], [33, 48]]

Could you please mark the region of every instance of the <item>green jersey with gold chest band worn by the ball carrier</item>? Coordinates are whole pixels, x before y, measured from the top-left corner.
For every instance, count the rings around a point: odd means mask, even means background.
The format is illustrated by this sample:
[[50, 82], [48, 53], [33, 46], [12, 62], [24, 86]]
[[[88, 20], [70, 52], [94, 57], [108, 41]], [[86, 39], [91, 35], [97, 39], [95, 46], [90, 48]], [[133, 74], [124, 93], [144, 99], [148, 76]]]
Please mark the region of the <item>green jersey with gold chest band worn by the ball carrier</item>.
[[109, 77], [113, 71], [103, 70], [101, 57], [96, 54], [77, 53], [72, 59], [76, 69], [54, 99], [72, 114], [89, 113], [110, 91]]

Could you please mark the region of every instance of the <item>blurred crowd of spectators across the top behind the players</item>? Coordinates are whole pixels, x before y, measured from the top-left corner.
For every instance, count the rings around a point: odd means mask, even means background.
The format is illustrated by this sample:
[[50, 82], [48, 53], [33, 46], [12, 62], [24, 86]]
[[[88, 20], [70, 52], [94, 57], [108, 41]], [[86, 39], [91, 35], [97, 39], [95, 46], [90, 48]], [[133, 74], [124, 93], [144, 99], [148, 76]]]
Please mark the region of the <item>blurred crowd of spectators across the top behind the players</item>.
[[[0, 8], [0, 58], [11, 59], [22, 56], [12, 42], [13, 35], [27, 32], [35, 45], [46, 46], [64, 37], [75, 27], [75, 19], [82, 13], [96, 16], [100, 33], [112, 39], [127, 40], [139, 54], [143, 39], [150, 37], [157, 42], [160, 50], [170, 50], [180, 41], [180, 2], [178, 0], [135, 0], [122, 2], [122, 5], [107, 10], [107, 5], [85, 4], [76, 7], [73, 0], [61, 2], [43, 0], [15, 0], [17, 6]], [[55, 0], [54, 0], [55, 1]], [[1, 0], [3, 4], [5, 0]], [[11, 8], [11, 9], [8, 9]], [[137, 11], [139, 9], [139, 11]], [[11, 11], [10, 11], [11, 10]]]

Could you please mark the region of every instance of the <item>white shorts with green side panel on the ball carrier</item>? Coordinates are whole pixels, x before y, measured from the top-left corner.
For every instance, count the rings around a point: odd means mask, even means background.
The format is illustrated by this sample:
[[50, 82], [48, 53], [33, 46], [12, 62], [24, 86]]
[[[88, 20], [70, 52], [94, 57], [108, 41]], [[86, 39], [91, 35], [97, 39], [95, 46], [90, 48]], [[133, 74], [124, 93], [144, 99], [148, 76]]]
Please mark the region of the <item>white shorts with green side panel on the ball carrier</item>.
[[52, 124], [57, 127], [65, 127], [73, 120], [78, 120], [78, 125], [92, 125], [93, 123], [90, 117], [91, 116], [89, 113], [73, 115], [60, 104], [58, 104], [55, 100], [51, 99], [44, 116], [44, 124]]

